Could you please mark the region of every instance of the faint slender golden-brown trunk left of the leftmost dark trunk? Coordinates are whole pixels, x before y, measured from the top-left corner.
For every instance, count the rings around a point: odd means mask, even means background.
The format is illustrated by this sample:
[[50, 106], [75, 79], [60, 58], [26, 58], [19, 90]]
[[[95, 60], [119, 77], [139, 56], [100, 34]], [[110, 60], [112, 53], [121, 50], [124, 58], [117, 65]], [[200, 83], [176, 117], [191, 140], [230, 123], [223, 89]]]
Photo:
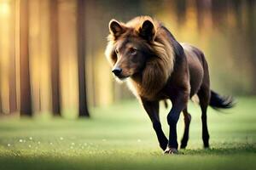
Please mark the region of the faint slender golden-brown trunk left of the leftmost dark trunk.
[[15, 14], [15, 3], [12, 1], [11, 8], [12, 12], [10, 13], [10, 48], [9, 48], [9, 112], [15, 113], [17, 111], [17, 99], [16, 99], [16, 65], [15, 65], [15, 23], [16, 23], [16, 14]]

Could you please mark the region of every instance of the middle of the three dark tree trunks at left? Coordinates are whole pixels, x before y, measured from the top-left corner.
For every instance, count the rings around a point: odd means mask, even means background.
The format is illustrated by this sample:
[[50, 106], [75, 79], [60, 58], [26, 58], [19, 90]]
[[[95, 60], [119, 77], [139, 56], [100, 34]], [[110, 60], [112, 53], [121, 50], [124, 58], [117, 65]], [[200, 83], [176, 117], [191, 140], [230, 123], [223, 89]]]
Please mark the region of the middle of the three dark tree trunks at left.
[[54, 116], [61, 116], [58, 1], [50, 0], [51, 93]]

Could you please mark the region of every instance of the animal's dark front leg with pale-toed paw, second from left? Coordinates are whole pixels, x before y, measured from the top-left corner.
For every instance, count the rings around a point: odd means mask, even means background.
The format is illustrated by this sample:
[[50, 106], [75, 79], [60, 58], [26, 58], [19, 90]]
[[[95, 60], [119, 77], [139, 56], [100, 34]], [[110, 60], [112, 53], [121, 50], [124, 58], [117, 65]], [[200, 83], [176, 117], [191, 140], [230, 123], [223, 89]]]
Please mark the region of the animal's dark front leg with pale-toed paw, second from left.
[[179, 94], [176, 99], [172, 100], [172, 110], [167, 116], [167, 122], [170, 127], [168, 147], [166, 154], [177, 154], [177, 121], [180, 112], [186, 107], [188, 103], [188, 95]]

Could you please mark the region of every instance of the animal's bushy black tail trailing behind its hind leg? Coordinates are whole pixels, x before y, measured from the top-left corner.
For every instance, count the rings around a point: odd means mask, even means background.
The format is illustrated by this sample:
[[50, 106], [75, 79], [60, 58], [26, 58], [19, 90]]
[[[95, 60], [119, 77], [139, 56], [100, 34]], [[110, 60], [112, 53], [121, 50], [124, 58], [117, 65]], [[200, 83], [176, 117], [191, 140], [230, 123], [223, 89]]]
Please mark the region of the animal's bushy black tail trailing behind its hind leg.
[[235, 99], [231, 96], [221, 96], [211, 90], [210, 106], [213, 109], [229, 109], [236, 105]]

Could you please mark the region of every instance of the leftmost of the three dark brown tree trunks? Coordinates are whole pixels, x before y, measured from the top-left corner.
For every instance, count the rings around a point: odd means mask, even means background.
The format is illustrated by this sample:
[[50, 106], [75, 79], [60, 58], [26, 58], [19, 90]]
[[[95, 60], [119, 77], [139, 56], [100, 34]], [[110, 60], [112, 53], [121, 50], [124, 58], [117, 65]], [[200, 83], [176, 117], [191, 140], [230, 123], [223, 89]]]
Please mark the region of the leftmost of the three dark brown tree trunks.
[[32, 116], [29, 71], [28, 0], [20, 1], [20, 115]]

